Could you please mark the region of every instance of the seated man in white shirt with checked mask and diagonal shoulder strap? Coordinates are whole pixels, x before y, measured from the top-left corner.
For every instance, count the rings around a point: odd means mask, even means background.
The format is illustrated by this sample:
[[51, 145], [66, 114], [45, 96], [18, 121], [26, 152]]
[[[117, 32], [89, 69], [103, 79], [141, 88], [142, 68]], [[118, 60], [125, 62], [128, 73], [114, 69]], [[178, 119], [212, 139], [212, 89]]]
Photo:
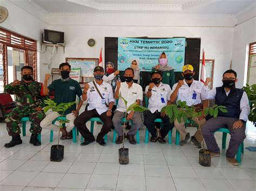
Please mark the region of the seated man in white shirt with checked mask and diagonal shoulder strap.
[[92, 117], [99, 117], [104, 124], [97, 136], [96, 142], [99, 145], [105, 146], [106, 143], [103, 137], [110, 131], [112, 126], [113, 91], [110, 84], [103, 81], [103, 67], [95, 67], [93, 75], [95, 76], [95, 81], [84, 85], [83, 95], [81, 96], [81, 99], [87, 101], [89, 106], [87, 111], [84, 111], [76, 118], [74, 124], [84, 137], [84, 142], [81, 145], [88, 145], [94, 142], [95, 138], [87, 129], [85, 123]]

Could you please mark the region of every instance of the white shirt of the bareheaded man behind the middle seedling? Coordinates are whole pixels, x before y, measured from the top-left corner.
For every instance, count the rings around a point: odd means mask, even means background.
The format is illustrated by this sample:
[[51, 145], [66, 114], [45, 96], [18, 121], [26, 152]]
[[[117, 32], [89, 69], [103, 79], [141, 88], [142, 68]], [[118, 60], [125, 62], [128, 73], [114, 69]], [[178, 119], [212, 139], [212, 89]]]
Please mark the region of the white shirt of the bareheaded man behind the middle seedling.
[[[142, 100], [143, 99], [143, 91], [142, 87], [137, 83], [132, 83], [132, 86], [129, 88], [128, 84], [126, 82], [121, 83], [121, 87], [119, 89], [119, 94], [122, 95], [122, 97], [125, 98], [127, 101], [127, 108], [136, 102], [136, 100]], [[118, 105], [117, 105], [117, 111], [125, 112], [125, 104], [122, 98], [119, 98]]]

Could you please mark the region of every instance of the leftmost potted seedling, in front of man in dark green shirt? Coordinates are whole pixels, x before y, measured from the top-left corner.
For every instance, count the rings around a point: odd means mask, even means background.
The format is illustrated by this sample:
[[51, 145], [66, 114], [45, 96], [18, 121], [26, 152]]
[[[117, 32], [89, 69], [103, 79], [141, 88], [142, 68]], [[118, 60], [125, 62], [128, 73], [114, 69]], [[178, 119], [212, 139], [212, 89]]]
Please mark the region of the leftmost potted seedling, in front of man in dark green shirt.
[[59, 122], [58, 144], [51, 146], [50, 160], [60, 162], [64, 158], [64, 145], [59, 145], [60, 129], [63, 128], [63, 125], [65, 123], [69, 123], [68, 119], [63, 118], [65, 117], [64, 113], [76, 102], [60, 103], [57, 105], [57, 103], [55, 103], [53, 100], [48, 99], [48, 100], [45, 100], [44, 103], [47, 105], [44, 108], [44, 112], [47, 112], [49, 109], [51, 109], [52, 111], [56, 111], [59, 113], [59, 117], [56, 120], [57, 122]]

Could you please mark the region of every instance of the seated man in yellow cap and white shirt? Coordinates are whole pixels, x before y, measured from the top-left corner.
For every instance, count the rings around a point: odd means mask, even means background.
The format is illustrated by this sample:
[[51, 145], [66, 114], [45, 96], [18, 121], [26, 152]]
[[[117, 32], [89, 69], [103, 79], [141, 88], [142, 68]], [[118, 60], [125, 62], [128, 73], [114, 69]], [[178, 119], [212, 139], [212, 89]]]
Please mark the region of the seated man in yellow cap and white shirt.
[[[210, 79], [207, 79], [205, 84], [203, 82], [197, 81], [193, 79], [195, 74], [194, 68], [192, 65], [185, 65], [182, 69], [182, 76], [184, 80], [179, 80], [178, 83], [174, 84], [172, 87], [171, 94], [171, 102], [177, 101], [186, 101], [187, 105], [191, 107], [194, 105], [196, 109], [203, 109], [208, 107], [207, 95], [208, 91], [208, 82]], [[198, 124], [196, 117], [192, 118], [192, 120]], [[199, 124], [203, 125], [206, 122], [205, 116], [199, 117]], [[186, 146], [187, 141], [190, 138], [190, 133], [187, 132], [185, 128], [185, 122], [181, 119], [181, 123], [179, 123], [176, 119], [174, 121], [175, 128], [179, 131], [181, 136], [181, 146]], [[203, 138], [201, 137], [201, 133], [198, 130], [194, 136], [191, 137], [190, 143], [193, 144], [197, 148], [201, 148], [201, 141]]]

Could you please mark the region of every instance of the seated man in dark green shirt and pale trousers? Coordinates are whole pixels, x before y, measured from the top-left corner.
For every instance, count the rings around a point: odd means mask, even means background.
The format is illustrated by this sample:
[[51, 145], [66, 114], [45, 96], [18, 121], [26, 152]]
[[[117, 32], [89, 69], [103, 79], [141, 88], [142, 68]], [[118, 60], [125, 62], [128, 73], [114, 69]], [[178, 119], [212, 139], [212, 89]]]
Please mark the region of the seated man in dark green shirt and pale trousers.
[[[54, 101], [57, 104], [75, 102], [77, 96], [82, 96], [83, 92], [79, 82], [70, 78], [71, 66], [69, 63], [64, 62], [59, 65], [61, 79], [54, 80], [49, 86], [48, 80], [51, 78], [50, 74], [45, 74], [43, 93], [48, 94], [49, 91], [55, 91]], [[72, 129], [75, 127], [74, 121], [79, 114], [79, 110], [82, 107], [83, 101], [79, 99], [79, 104], [76, 109], [76, 104], [73, 104], [68, 110], [65, 111], [66, 119], [70, 122], [66, 124], [65, 128], [61, 128], [62, 137], [60, 139], [72, 139]], [[52, 121], [59, 116], [58, 112], [50, 111], [46, 114], [46, 117], [41, 122], [43, 129], [50, 129], [53, 131], [59, 131], [59, 126], [52, 124]]]

